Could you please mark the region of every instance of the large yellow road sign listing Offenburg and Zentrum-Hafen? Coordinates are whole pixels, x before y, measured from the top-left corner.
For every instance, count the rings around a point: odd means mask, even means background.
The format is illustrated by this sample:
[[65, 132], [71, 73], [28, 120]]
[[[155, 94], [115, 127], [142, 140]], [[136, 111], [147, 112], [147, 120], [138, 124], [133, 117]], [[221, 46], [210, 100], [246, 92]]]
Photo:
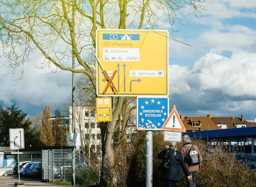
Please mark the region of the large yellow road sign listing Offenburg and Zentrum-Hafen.
[[[103, 66], [96, 66], [97, 95], [168, 95], [168, 36], [166, 30], [97, 29], [96, 56]], [[108, 77], [117, 73], [109, 80], [103, 70]]]

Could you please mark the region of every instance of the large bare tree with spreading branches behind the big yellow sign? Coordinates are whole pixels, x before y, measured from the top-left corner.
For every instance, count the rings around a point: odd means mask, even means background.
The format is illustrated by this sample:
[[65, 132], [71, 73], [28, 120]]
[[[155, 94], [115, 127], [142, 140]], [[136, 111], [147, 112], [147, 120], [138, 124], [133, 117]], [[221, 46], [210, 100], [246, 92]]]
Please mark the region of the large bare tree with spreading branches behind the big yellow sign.
[[[62, 69], [84, 73], [93, 89], [96, 89], [96, 76], [81, 55], [88, 49], [94, 51], [97, 28], [142, 29], [145, 22], [154, 28], [163, 15], [169, 18], [170, 27], [173, 28], [175, 21], [180, 22], [180, 9], [188, 6], [191, 14], [200, 17], [204, 2], [205, 0], [1, 0], [0, 47], [13, 70], [34, 60], [34, 53], [41, 52], [44, 56], [41, 67], [52, 63], [56, 66], [56, 71]], [[176, 40], [173, 35], [170, 38]], [[70, 66], [72, 53], [81, 68], [73, 69]], [[23, 70], [20, 78], [22, 75]], [[124, 97], [113, 98], [113, 101], [113, 121], [100, 125], [100, 183], [111, 187], [113, 131]]]

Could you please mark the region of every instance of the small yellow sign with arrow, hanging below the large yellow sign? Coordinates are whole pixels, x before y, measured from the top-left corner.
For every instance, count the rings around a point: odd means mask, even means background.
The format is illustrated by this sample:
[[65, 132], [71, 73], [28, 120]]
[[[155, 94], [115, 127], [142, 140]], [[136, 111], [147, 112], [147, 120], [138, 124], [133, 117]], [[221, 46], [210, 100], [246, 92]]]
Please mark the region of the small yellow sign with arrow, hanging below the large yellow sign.
[[112, 121], [112, 99], [96, 98], [97, 121]]

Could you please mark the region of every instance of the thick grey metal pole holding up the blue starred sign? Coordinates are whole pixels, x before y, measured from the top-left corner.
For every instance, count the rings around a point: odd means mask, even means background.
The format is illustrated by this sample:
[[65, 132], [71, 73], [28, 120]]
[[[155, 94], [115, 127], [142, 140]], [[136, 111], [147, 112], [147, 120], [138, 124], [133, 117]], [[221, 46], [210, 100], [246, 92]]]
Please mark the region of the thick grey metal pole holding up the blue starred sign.
[[153, 131], [146, 130], [146, 187], [153, 186]]

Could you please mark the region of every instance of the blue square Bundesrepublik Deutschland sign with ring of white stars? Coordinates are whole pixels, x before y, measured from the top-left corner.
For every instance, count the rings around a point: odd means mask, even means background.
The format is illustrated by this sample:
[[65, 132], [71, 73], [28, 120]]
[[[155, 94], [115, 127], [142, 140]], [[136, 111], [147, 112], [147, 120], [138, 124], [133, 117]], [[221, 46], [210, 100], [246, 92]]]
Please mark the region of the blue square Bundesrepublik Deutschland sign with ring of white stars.
[[137, 97], [137, 129], [162, 130], [168, 116], [168, 97]]

